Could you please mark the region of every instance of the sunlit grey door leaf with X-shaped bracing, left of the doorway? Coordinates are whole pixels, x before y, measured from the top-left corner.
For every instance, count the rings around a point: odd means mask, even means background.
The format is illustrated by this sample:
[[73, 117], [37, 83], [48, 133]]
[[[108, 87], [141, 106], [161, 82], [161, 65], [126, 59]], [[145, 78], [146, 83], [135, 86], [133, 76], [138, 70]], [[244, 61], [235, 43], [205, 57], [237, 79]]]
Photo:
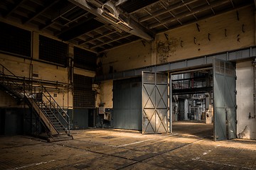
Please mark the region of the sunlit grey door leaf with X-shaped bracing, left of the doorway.
[[168, 132], [168, 77], [142, 72], [142, 134]]

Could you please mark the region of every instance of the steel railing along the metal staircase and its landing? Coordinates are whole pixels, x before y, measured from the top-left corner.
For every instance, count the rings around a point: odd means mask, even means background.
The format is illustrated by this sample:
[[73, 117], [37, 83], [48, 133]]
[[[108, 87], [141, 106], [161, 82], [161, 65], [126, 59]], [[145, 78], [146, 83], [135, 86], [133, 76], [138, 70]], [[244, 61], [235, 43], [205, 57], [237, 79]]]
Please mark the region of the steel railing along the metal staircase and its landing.
[[[50, 111], [55, 116], [55, 119], [58, 120], [60, 125], [65, 128], [63, 123], [66, 125], [66, 133], [70, 135], [70, 118], [66, 111], [63, 110], [62, 107], [58, 105], [58, 103], [55, 101], [55, 99], [49, 94], [49, 92], [46, 90], [46, 87], [43, 85], [41, 86], [34, 86], [32, 88], [32, 84], [26, 84], [25, 78], [17, 77], [15, 74], [13, 74], [9, 69], [4, 67], [4, 65], [0, 64], [0, 82], [4, 85], [5, 89], [10, 91], [12, 94], [14, 94], [16, 97], [26, 101], [29, 105], [33, 105], [31, 101], [28, 100], [28, 98], [32, 98], [33, 101], [37, 104], [38, 108], [41, 110], [41, 112], [46, 115], [48, 118], [48, 127], [50, 128], [50, 124], [53, 125], [53, 123], [50, 122], [50, 118], [47, 112]], [[36, 99], [36, 95], [41, 94], [42, 95], [42, 101], [38, 102]], [[48, 104], [49, 103], [49, 104]], [[32, 106], [33, 107], [33, 106]], [[35, 108], [33, 108], [35, 109]], [[41, 117], [41, 112], [38, 112], [39, 117]], [[46, 122], [44, 122], [46, 123]], [[53, 125], [53, 127], [55, 127]], [[46, 126], [45, 126], [46, 128]], [[49, 129], [50, 130], [50, 129]], [[58, 130], [55, 128], [55, 130], [58, 132]], [[58, 132], [59, 133], [59, 132]], [[50, 137], [53, 137], [51, 135], [51, 130], [48, 132], [48, 135]]]

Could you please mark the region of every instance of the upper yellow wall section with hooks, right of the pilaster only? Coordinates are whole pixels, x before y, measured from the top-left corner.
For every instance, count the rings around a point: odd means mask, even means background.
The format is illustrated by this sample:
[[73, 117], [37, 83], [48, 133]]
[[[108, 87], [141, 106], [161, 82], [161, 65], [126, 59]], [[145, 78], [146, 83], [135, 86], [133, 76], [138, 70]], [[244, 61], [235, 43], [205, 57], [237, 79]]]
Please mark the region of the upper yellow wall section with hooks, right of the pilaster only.
[[[255, 45], [254, 7], [169, 30], [156, 36], [157, 64]], [[198, 28], [200, 31], [198, 31]], [[154, 42], [155, 43], [155, 42]]]

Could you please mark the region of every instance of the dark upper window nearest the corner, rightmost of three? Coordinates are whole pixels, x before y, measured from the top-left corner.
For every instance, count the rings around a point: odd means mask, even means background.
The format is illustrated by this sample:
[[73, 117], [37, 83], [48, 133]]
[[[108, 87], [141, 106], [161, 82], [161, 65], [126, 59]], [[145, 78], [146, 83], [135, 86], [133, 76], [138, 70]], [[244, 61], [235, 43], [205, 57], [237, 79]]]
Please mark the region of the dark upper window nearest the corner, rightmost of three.
[[87, 50], [74, 47], [74, 66], [87, 69], [90, 71], [96, 71], [97, 55]]

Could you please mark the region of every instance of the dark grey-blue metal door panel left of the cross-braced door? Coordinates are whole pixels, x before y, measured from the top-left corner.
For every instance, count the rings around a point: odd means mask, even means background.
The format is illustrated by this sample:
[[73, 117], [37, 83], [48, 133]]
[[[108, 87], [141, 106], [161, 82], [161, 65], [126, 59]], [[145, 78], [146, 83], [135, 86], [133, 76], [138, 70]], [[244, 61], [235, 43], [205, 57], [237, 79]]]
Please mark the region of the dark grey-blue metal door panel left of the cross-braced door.
[[142, 130], [141, 77], [115, 80], [113, 87], [113, 127]]

